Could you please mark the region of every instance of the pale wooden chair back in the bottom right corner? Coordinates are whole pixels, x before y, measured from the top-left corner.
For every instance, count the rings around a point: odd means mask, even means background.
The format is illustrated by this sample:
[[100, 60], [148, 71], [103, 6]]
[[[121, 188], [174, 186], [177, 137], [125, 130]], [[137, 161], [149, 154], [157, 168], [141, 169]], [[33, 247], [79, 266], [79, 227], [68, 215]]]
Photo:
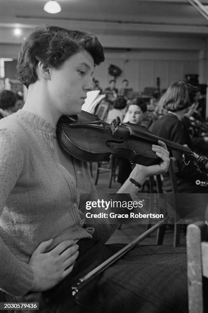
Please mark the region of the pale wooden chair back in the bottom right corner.
[[206, 313], [207, 307], [204, 307], [203, 299], [203, 278], [208, 278], [207, 222], [197, 221], [187, 227], [187, 265], [189, 312]]

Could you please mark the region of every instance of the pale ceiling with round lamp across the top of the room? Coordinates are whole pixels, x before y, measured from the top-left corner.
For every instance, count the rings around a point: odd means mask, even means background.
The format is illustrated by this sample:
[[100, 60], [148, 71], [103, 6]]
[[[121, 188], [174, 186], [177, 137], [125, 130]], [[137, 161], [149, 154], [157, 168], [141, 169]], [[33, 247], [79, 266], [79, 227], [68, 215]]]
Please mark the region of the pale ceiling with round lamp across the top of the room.
[[[0, 30], [56, 24], [106, 34], [208, 32], [208, 21], [186, 0], [58, 0], [58, 14], [43, 11], [46, 1], [0, 0]], [[208, 5], [208, 0], [202, 3]]]

